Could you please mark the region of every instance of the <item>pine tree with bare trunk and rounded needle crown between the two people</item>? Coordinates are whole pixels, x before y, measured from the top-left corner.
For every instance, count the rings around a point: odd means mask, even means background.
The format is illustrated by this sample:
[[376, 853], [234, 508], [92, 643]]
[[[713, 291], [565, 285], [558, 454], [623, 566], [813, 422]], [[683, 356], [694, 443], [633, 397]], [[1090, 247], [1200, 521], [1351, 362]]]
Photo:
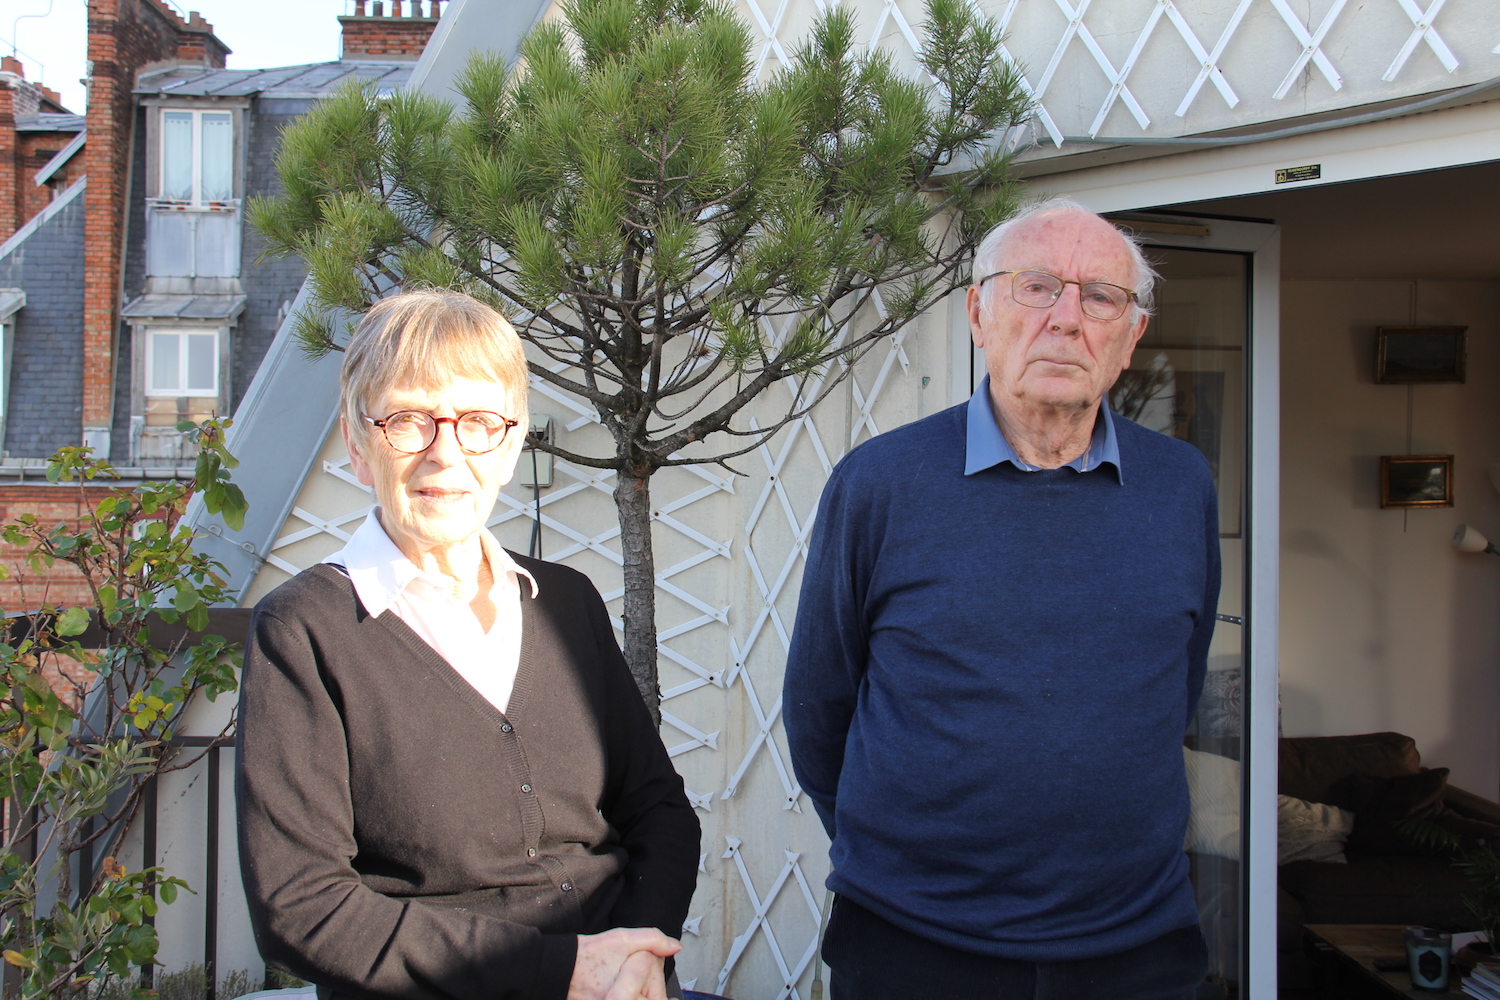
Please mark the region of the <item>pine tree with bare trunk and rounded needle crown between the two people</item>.
[[[651, 477], [729, 462], [800, 420], [968, 280], [1017, 202], [1005, 142], [1030, 114], [1000, 31], [928, 0], [920, 66], [830, 4], [756, 79], [716, 0], [568, 0], [520, 58], [477, 55], [464, 106], [351, 84], [285, 132], [268, 253], [302, 258], [306, 351], [399, 285], [494, 303], [531, 375], [609, 444], [538, 442], [610, 469], [624, 652], [658, 706]], [[784, 391], [771, 394], [772, 387]]]

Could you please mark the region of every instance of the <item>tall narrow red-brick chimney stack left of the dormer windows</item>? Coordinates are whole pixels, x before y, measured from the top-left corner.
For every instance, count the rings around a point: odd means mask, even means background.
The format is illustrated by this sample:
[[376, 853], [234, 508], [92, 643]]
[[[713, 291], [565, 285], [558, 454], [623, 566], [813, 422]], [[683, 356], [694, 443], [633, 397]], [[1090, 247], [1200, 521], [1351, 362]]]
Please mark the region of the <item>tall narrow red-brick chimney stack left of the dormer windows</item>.
[[136, 72], [152, 63], [224, 66], [228, 48], [202, 18], [160, 0], [93, 0], [88, 7], [88, 208], [84, 237], [82, 427], [108, 429], [114, 408], [122, 241]]

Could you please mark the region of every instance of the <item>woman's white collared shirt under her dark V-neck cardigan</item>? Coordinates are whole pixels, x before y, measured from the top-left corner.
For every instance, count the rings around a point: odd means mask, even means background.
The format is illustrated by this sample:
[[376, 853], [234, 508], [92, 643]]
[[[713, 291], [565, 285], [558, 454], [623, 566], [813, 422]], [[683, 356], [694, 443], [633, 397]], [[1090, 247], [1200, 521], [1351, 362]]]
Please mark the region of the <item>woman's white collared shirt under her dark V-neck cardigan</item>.
[[400, 553], [381, 528], [375, 516], [378, 510], [372, 510], [348, 544], [324, 562], [348, 570], [354, 592], [370, 615], [390, 609], [484, 700], [504, 712], [520, 666], [519, 577], [526, 577], [531, 597], [537, 595], [537, 580], [516, 565], [488, 529], [480, 531], [480, 544], [495, 579], [489, 597], [496, 612], [495, 624], [484, 631], [468, 603], [453, 597], [452, 580], [423, 573]]

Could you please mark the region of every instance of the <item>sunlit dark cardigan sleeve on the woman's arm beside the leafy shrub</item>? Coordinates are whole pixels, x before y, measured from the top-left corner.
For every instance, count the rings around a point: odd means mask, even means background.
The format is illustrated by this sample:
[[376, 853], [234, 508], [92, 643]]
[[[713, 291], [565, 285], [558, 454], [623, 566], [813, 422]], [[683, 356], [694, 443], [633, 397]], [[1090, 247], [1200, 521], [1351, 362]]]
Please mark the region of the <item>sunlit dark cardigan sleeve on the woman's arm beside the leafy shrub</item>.
[[352, 867], [344, 720], [306, 627], [256, 612], [240, 693], [240, 865], [261, 955], [356, 997], [562, 1000], [578, 939], [378, 894]]

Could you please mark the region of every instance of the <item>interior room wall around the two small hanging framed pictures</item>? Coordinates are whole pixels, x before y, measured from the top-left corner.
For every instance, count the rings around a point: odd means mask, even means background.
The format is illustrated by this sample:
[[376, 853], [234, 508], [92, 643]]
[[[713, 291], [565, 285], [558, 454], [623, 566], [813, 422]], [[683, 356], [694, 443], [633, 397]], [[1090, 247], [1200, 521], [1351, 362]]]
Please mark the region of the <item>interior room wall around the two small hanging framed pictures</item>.
[[[1286, 280], [1281, 297], [1281, 720], [1395, 730], [1452, 783], [1500, 793], [1500, 282]], [[1374, 384], [1377, 325], [1468, 327], [1468, 381]], [[1452, 508], [1380, 510], [1382, 454], [1454, 454]]]

